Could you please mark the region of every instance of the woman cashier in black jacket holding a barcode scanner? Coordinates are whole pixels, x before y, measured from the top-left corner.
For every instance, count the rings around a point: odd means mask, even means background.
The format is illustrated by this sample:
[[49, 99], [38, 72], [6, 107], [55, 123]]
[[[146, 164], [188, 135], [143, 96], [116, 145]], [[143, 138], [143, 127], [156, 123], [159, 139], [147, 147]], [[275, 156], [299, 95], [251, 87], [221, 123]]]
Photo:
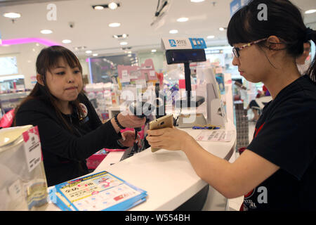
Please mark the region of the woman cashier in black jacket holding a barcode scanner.
[[[48, 186], [88, 173], [86, 158], [102, 148], [133, 146], [145, 118], [119, 113], [100, 122], [82, 91], [82, 68], [62, 46], [43, 49], [37, 57], [37, 84], [16, 111], [15, 125], [38, 126]], [[123, 136], [123, 137], [122, 137]]]

